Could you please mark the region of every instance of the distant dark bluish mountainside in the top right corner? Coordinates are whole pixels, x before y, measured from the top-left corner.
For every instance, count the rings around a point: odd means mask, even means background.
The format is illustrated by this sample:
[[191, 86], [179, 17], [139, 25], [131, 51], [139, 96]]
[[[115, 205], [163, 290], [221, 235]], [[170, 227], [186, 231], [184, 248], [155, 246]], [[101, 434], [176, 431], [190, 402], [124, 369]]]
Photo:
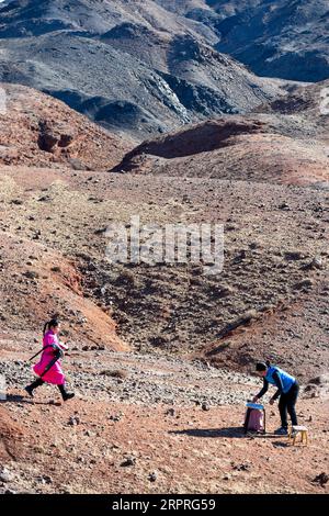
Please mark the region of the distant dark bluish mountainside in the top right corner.
[[327, 0], [216, 1], [225, 20], [217, 24], [216, 48], [231, 54], [257, 75], [302, 81], [329, 76]]

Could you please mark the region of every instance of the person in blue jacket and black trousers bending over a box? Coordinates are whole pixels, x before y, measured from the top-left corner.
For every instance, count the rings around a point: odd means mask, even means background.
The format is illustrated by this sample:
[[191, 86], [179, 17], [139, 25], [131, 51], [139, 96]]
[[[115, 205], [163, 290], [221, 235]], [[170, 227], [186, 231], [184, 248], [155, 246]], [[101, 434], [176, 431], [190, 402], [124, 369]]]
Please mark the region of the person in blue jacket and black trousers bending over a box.
[[260, 397], [262, 397], [265, 392], [269, 390], [269, 384], [276, 385], [277, 391], [270, 400], [270, 404], [273, 405], [274, 402], [279, 400], [279, 411], [281, 416], [281, 427], [275, 430], [274, 434], [277, 435], [287, 435], [287, 413], [291, 416], [292, 425], [297, 426], [297, 415], [295, 405], [298, 397], [299, 385], [297, 380], [288, 374], [287, 372], [283, 371], [282, 369], [277, 368], [276, 366], [272, 366], [269, 361], [268, 362], [258, 362], [256, 364], [256, 372], [263, 378], [263, 388], [253, 397], [253, 403], [257, 403]]

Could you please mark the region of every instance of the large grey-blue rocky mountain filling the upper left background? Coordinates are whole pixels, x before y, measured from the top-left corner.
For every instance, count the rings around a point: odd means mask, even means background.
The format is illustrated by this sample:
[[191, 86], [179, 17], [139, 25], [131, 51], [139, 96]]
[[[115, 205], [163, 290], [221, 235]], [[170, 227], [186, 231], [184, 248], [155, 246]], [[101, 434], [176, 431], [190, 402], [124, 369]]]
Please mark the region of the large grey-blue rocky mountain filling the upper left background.
[[200, 29], [154, 1], [12, 1], [0, 9], [0, 79], [138, 139], [283, 93]]

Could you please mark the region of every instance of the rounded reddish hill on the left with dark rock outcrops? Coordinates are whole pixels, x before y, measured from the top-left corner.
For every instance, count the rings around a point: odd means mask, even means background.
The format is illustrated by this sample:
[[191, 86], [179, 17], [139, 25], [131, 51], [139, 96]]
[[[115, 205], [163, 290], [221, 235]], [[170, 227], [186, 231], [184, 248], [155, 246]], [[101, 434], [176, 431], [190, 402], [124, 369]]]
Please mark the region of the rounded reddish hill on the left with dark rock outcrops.
[[134, 146], [54, 98], [20, 85], [0, 83], [0, 162], [106, 170]]

